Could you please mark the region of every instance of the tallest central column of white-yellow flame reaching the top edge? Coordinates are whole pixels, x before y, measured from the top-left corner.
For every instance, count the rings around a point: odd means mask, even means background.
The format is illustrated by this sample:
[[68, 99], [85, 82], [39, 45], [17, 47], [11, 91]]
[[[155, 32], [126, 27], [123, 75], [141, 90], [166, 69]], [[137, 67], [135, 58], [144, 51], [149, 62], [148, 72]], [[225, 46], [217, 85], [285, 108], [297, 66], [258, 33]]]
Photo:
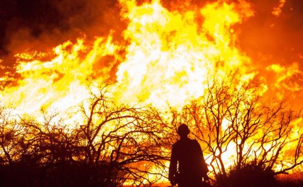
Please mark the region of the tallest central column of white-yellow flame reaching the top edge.
[[[245, 18], [236, 4], [216, 2], [183, 12], [169, 12], [156, 0], [125, 6], [130, 45], [117, 72], [122, 101], [182, 107], [203, 95], [215, 71], [224, 76], [250, 63], [235, 47], [232, 26]], [[197, 17], [204, 17], [202, 25]], [[246, 69], [240, 71], [241, 76]]]

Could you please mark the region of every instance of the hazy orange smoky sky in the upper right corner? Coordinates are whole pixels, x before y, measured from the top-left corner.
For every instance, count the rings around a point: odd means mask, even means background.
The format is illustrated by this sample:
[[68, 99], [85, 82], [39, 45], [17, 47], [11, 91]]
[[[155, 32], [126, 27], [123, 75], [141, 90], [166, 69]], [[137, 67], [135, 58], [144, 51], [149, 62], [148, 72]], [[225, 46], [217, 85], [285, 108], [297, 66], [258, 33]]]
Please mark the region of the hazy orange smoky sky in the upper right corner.
[[282, 13], [276, 17], [271, 11], [278, 2], [252, 0], [255, 16], [239, 26], [239, 45], [248, 56], [263, 64], [297, 61], [302, 65], [303, 0], [286, 0]]

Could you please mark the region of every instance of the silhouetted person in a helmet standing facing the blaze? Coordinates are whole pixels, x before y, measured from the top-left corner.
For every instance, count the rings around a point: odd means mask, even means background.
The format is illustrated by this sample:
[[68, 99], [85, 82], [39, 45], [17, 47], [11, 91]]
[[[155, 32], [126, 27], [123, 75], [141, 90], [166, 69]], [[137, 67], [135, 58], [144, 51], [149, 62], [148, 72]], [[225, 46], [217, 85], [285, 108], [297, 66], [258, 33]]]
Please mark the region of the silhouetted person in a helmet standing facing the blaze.
[[180, 140], [172, 145], [168, 180], [171, 185], [178, 183], [178, 187], [202, 187], [202, 177], [208, 180], [208, 169], [201, 146], [187, 137], [189, 129], [185, 124], [177, 133]]

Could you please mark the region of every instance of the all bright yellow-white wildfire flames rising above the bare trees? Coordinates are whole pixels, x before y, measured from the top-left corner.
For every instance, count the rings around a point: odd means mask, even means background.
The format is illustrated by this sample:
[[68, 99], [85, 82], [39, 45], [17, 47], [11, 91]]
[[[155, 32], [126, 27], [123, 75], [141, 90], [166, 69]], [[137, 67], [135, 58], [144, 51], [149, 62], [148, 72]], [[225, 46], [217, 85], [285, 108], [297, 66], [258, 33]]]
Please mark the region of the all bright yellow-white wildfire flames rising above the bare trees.
[[[278, 17], [285, 2], [280, 0], [272, 14]], [[119, 6], [127, 25], [122, 39], [115, 39], [115, 30], [93, 42], [79, 34], [76, 42], [66, 41], [52, 51], [15, 54], [18, 76], [0, 78], [1, 104], [19, 116], [41, 118], [43, 111], [55, 110], [70, 123], [81, 123], [76, 106], [98, 95], [108, 80], [114, 82], [110, 90], [117, 103], [161, 111], [180, 110], [204, 95], [215, 74], [224, 80], [231, 71], [236, 71], [235, 87], [258, 79], [257, 94], [265, 98], [282, 100], [303, 89], [298, 63], [272, 63], [260, 70], [237, 45], [237, 27], [255, 14], [245, 0], [203, 6], [177, 1], [170, 9], [159, 0], [119, 0]], [[264, 71], [273, 75], [270, 80]], [[296, 77], [299, 81], [292, 81]], [[222, 128], [228, 120], [224, 123]], [[224, 153], [224, 162], [233, 164], [234, 146]]]

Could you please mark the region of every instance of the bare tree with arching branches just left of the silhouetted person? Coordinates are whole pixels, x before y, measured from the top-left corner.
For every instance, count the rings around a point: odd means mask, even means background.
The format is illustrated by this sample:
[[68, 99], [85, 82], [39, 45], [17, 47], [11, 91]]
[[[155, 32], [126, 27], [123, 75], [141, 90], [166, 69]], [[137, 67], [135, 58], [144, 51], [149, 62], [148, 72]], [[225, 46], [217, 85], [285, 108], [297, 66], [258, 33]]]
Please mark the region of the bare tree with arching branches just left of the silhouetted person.
[[[163, 177], [164, 161], [168, 160], [168, 150], [163, 145], [169, 131], [158, 111], [117, 104], [106, 97], [106, 92], [95, 95], [90, 103], [89, 109], [82, 106], [86, 116], [85, 125], [81, 126], [85, 162], [108, 163], [119, 184], [131, 181], [151, 185]], [[154, 169], [160, 170], [153, 172]]]

